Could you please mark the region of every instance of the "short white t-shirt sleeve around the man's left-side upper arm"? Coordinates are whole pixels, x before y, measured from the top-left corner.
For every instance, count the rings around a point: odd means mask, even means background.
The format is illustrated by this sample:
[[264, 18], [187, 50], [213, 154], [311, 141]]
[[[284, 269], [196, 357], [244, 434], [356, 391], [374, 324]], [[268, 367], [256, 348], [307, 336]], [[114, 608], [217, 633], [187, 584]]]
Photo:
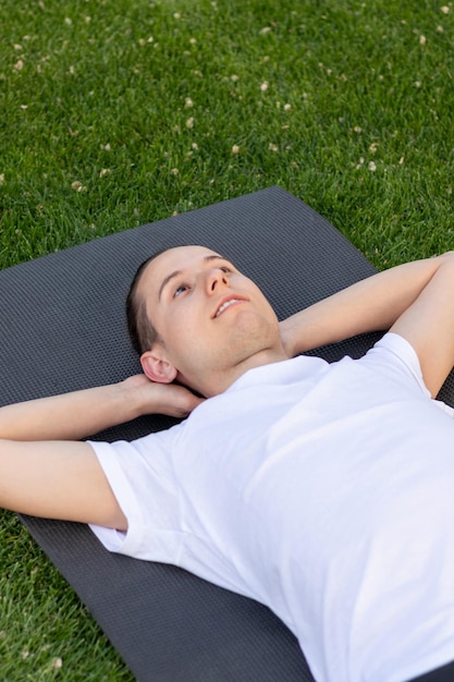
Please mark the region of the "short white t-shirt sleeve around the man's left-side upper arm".
[[182, 425], [145, 438], [113, 443], [89, 441], [127, 520], [127, 532], [91, 524], [109, 551], [177, 563], [181, 514], [172, 451]]

